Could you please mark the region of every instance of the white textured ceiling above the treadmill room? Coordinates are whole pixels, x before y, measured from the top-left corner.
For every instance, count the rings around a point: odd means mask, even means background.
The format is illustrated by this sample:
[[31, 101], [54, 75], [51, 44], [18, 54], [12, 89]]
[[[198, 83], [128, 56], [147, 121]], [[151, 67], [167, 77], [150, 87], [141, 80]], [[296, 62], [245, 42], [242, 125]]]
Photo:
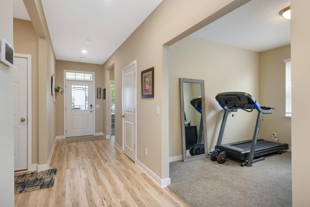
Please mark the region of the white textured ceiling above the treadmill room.
[[290, 44], [290, 0], [252, 0], [190, 36], [262, 52]]

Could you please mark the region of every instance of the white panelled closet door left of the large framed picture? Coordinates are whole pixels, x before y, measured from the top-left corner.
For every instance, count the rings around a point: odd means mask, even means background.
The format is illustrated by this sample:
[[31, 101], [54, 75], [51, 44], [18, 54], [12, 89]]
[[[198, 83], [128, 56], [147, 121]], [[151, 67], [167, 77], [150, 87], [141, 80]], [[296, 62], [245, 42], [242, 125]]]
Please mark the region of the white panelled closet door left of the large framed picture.
[[136, 64], [123, 70], [123, 150], [133, 161], [136, 159]]

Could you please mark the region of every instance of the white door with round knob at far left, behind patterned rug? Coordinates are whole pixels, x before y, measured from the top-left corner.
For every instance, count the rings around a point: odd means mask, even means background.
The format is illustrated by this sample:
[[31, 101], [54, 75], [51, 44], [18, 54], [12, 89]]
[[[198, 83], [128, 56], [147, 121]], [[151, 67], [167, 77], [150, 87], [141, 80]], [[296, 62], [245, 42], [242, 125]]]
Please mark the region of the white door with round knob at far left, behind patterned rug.
[[14, 90], [14, 171], [27, 169], [27, 58], [15, 57]]

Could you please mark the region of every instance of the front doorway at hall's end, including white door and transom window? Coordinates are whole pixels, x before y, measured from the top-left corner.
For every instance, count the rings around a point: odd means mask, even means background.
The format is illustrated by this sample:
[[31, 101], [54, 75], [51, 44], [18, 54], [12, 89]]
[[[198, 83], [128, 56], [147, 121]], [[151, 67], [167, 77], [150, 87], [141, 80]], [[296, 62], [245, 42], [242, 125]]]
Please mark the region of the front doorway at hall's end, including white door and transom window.
[[65, 137], [94, 135], [94, 73], [64, 71]]

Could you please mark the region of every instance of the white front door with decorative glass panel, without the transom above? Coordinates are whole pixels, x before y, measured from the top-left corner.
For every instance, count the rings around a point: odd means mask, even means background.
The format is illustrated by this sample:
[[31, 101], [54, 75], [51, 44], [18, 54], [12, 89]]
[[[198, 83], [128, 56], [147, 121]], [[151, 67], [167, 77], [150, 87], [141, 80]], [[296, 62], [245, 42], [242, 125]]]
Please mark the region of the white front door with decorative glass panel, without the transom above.
[[66, 81], [66, 137], [94, 135], [93, 82]]

